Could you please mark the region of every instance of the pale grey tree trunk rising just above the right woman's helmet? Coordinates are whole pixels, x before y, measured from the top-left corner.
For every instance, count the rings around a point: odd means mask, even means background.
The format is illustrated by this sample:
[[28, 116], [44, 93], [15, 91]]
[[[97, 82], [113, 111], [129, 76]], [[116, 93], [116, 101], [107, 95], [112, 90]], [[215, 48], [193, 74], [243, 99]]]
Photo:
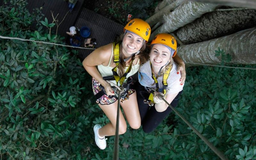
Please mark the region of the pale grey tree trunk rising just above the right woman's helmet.
[[158, 33], [173, 32], [194, 21], [202, 16], [202, 14], [211, 12], [215, 7], [217, 7], [217, 4], [205, 4], [191, 1], [185, 2], [167, 16], [164, 16], [164, 24], [151, 34], [149, 40], [152, 40]]

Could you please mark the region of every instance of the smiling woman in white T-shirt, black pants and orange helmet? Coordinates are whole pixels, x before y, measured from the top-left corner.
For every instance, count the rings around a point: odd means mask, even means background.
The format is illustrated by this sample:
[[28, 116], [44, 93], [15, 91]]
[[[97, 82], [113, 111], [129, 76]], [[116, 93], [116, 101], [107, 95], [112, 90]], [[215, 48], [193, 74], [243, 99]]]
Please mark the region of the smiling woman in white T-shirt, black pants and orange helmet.
[[172, 111], [161, 97], [172, 107], [178, 105], [184, 82], [180, 83], [178, 65], [172, 59], [176, 50], [177, 42], [172, 35], [158, 34], [151, 42], [150, 60], [140, 67], [136, 92], [141, 124], [146, 133], [156, 129]]

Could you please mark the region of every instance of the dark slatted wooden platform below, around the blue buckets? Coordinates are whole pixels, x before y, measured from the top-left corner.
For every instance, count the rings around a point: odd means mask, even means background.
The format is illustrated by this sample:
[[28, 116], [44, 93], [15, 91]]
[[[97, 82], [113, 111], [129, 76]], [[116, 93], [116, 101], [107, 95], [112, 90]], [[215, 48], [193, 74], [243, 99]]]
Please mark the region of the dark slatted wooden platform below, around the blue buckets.
[[[97, 14], [91, 10], [88, 10], [83, 6], [84, 0], [78, 0], [72, 13], [69, 12], [68, 3], [64, 0], [27, 0], [28, 1], [28, 10], [29, 12], [33, 12], [34, 8], [41, 8], [41, 12], [45, 15], [48, 19], [49, 23], [52, 23], [52, 13], [53, 16], [57, 16], [58, 22], [60, 23], [61, 20], [65, 17], [63, 22], [60, 24], [58, 28], [58, 34], [60, 36], [64, 36], [66, 39], [66, 43], [70, 45], [69, 38], [66, 34], [69, 31], [69, 27], [76, 26], [81, 28], [86, 26], [91, 29], [91, 35], [88, 38], [95, 38], [96, 39], [96, 48], [112, 43], [116, 40], [118, 36], [123, 33], [124, 26], [108, 19], [100, 14]], [[93, 8], [92, 8], [93, 10]], [[44, 19], [44, 18], [43, 18]], [[56, 27], [53, 28], [56, 30]], [[82, 38], [82, 45], [84, 47], [84, 40]], [[84, 59], [88, 54], [90, 54], [93, 50], [87, 49], [78, 49], [79, 50], [79, 57]]]

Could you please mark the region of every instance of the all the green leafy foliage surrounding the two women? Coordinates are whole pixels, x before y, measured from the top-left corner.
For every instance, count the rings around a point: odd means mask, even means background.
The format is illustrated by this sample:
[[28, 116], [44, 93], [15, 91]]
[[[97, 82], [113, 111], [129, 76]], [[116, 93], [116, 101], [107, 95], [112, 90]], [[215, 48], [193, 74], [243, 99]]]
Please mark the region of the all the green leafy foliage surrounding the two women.
[[[30, 14], [26, 1], [8, 3], [0, 7], [1, 35], [63, 43], [42, 29], [54, 25], [39, 10]], [[65, 47], [1, 39], [1, 159], [113, 158], [114, 136], [105, 150], [95, 145], [93, 125], [109, 120], [76, 55]], [[255, 159], [255, 71], [193, 67], [187, 73], [177, 110], [228, 159]], [[120, 159], [218, 159], [174, 113], [152, 133], [128, 126], [119, 145]]]

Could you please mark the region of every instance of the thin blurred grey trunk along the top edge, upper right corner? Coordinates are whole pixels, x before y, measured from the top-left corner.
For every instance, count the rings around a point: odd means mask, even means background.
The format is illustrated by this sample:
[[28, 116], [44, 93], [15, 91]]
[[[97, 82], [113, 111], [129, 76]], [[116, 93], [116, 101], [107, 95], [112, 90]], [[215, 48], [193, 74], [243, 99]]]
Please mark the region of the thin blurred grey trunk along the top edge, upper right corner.
[[194, 0], [194, 1], [215, 3], [215, 4], [219, 4], [219, 5], [225, 5], [225, 6], [246, 7], [246, 8], [256, 9], [256, 1], [255, 0]]

